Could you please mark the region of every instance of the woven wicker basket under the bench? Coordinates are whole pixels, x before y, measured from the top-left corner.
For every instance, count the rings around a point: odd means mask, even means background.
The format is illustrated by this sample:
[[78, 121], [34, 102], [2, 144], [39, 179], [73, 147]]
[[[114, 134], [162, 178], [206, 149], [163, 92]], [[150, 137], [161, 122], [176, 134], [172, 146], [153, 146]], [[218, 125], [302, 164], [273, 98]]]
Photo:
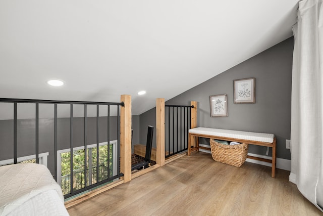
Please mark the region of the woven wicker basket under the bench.
[[210, 139], [212, 158], [215, 161], [240, 167], [247, 158], [248, 144], [224, 145]]

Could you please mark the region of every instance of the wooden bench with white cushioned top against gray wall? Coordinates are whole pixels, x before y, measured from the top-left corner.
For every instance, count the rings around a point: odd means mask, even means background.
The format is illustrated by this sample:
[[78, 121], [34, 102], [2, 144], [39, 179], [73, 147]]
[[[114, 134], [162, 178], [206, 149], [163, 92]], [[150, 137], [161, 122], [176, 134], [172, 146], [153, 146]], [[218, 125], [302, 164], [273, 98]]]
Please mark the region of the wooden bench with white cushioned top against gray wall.
[[[260, 157], [253, 157], [249, 155], [247, 156], [247, 158], [272, 163], [272, 178], [275, 178], [276, 137], [273, 134], [232, 131], [227, 129], [216, 129], [216, 128], [207, 128], [207, 127], [195, 127], [195, 128], [189, 129], [189, 135], [188, 135], [189, 148], [187, 150], [187, 155], [190, 155], [191, 152], [193, 151], [199, 151], [199, 148], [210, 150], [210, 148], [199, 146], [199, 141], [198, 141], [199, 137], [271, 147], [273, 152], [272, 160], [264, 159]], [[195, 144], [193, 143], [192, 145], [192, 142], [194, 141], [195, 141]]]

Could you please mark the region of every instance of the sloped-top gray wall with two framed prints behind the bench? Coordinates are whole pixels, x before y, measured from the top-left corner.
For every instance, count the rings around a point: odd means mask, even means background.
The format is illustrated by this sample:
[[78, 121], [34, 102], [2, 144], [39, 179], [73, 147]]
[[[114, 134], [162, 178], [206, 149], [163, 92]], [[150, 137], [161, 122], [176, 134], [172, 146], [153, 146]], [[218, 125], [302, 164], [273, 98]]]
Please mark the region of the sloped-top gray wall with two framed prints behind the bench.
[[[190, 101], [197, 101], [197, 126], [275, 134], [277, 157], [291, 159], [285, 140], [290, 139], [293, 47], [294, 39], [290, 37], [166, 104], [190, 105]], [[233, 80], [250, 77], [255, 77], [255, 104], [234, 104]], [[228, 117], [210, 117], [209, 96], [221, 94], [228, 97]], [[155, 126], [155, 108], [140, 115], [141, 143], [145, 143], [149, 124]], [[208, 144], [208, 140], [201, 143]], [[249, 152], [265, 155], [266, 147], [249, 145]]]

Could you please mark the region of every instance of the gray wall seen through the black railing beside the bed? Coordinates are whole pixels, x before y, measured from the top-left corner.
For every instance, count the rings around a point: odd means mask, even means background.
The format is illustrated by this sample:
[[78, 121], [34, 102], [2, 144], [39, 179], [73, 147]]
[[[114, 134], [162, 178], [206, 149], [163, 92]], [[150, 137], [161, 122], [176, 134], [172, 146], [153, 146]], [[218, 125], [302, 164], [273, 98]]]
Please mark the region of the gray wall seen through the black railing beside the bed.
[[[132, 125], [139, 128], [139, 115], [132, 116]], [[117, 117], [110, 118], [110, 140], [117, 140]], [[14, 121], [0, 120], [0, 160], [14, 157]], [[35, 154], [35, 119], [17, 120], [18, 157]], [[107, 117], [99, 117], [99, 143], [107, 141]], [[87, 118], [87, 143], [96, 144], [96, 117]], [[133, 143], [139, 143], [134, 130]], [[73, 118], [73, 147], [84, 146], [84, 118]], [[58, 150], [70, 148], [70, 118], [58, 118]], [[54, 174], [54, 119], [39, 119], [39, 153], [48, 152], [48, 168]]]

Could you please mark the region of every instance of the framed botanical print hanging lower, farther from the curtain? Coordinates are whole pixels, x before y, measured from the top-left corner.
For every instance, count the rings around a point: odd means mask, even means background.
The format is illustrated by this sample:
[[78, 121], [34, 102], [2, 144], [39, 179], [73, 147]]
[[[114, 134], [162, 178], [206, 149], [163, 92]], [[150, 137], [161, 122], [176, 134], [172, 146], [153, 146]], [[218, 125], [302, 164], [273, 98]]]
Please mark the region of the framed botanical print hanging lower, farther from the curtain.
[[228, 98], [227, 94], [210, 96], [210, 114], [211, 117], [228, 116]]

